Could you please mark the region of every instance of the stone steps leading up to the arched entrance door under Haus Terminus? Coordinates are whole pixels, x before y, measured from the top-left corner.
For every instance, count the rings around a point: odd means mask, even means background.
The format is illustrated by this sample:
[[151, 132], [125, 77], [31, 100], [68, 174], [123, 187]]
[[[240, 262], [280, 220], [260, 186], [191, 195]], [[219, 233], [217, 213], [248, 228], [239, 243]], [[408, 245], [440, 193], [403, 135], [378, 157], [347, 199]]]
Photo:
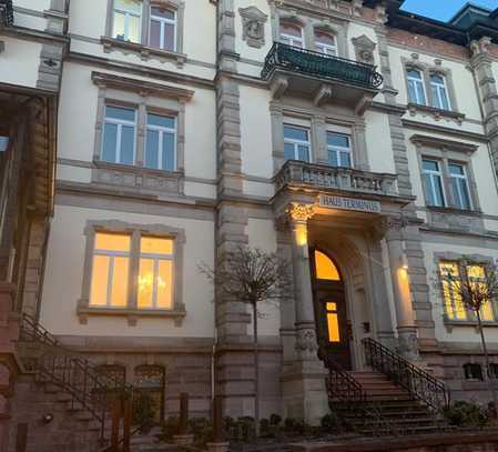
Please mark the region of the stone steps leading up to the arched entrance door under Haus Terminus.
[[350, 372], [360, 384], [364, 409], [370, 416], [358, 416], [357, 410], [336, 403], [339, 415], [365, 435], [433, 433], [445, 426], [439, 415], [404, 388], [380, 372]]

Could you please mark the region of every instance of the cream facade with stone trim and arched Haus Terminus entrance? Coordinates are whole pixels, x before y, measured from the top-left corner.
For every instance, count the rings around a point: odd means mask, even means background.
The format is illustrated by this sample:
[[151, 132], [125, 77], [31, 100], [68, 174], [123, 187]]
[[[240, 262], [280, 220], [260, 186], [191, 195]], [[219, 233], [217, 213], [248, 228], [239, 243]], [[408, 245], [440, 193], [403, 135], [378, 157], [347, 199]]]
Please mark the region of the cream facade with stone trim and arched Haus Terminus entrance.
[[[498, 10], [443, 24], [402, 3], [72, 0], [43, 293], [23, 309], [160, 418], [181, 391], [194, 415], [214, 393], [251, 415], [250, 310], [199, 271], [248, 244], [294, 281], [260, 320], [264, 416], [316, 422], [328, 362], [364, 369], [368, 337], [486, 400], [476, 322], [434, 280], [498, 258]], [[484, 319], [498, 365], [498, 307]]]

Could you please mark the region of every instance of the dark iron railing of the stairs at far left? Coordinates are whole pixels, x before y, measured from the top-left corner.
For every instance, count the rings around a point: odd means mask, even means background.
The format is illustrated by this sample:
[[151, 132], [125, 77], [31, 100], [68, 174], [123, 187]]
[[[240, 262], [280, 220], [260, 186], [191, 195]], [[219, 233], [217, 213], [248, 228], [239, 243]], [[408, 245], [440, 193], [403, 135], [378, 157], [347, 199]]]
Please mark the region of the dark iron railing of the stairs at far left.
[[54, 384], [71, 395], [71, 408], [88, 410], [100, 423], [103, 441], [113, 403], [133, 396], [134, 389], [100, 373], [88, 360], [63, 348], [37, 320], [26, 313], [20, 324], [20, 343], [35, 343], [39, 349], [22, 359], [27, 370], [35, 373], [37, 381]]

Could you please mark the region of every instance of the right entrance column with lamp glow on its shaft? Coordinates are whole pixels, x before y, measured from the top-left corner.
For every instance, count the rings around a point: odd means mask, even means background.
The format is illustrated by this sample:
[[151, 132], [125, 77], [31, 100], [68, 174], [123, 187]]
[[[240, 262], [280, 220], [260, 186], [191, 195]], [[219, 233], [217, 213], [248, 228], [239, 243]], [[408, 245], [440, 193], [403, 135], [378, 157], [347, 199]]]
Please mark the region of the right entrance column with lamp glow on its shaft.
[[417, 328], [410, 297], [408, 259], [403, 244], [403, 223], [398, 219], [388, 219], [386, 242], [389, 254], [390, 277], [393, 280], [398, 351], [409, 360], [418, 360]]

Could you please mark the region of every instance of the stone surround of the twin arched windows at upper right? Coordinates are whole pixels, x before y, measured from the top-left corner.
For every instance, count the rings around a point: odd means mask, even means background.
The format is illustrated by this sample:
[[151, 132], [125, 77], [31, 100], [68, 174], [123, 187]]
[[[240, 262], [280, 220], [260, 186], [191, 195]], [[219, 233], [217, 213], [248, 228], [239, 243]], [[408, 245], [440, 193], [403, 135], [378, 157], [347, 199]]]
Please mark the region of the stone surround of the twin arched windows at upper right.
[[[459, 112], [458, 110], [458, 103], [456, 99], [456, 91], [453, 80], [453, 73], [451, 70], [448, 68], [443, 67], [443, 61], [439, 59], [434, 60], [434, 64], [428, 64], [419, 61], [418, 54], [413, 53], [411, 59], [402, 58], [403, 62], [403, 69], [405, 74], [405, 89], [406, 89], [406, 99], [408, 103], [408, 110], [410, 112], [410, 115], [415, 115], [417, 112], [430, 114], [434, 119], [439, 120], [441, 118], [447, 118], [455, 120], [458, 124], [461, 124], [465, 114]], [[421, 73], [424, 79], [424, 87], [426, 92], [426, 106], [421, 106], [418, 103], [411, 103], [408, 97], [408, 78], [407, 72], [409, 70], [417, 70]], [[443, 110], [433, 107], [433, 91], [430, 89], [430, 76], [431, 74], [439, 74], [445, 78], [446, 80], [446, 88], [448, 91], [448, 99], [451, 107], [451, 110]]]

